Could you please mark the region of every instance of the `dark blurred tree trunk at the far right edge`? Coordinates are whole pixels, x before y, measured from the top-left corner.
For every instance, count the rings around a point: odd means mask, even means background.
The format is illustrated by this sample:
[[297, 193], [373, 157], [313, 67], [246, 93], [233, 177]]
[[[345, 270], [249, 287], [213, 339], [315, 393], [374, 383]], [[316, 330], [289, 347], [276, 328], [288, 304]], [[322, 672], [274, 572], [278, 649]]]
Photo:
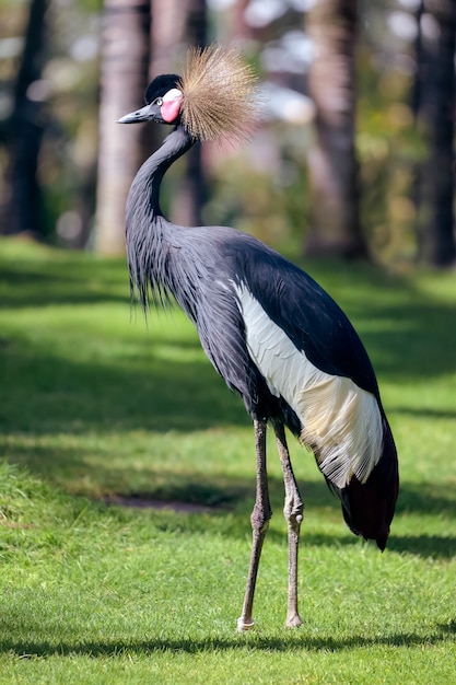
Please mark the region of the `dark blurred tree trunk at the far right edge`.
[[429, 155], [418, 172], [418, 256], [431, 266], [456, 259], [454, 233], [454, 112], [456, 104], [454, 0], [426, 0], [419, 12], [414, 108]]

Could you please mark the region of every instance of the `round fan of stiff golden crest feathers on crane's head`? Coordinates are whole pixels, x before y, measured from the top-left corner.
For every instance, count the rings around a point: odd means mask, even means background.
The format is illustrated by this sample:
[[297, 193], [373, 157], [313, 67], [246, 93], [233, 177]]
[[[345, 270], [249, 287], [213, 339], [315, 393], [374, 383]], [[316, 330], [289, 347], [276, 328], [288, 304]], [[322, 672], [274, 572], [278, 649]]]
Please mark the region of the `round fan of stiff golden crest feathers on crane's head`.
[[182, 121], [198, 140], [241, 142], [258, 118], [256, 76], [242, 55], [211, 45], [190, 48], [178, 85]]

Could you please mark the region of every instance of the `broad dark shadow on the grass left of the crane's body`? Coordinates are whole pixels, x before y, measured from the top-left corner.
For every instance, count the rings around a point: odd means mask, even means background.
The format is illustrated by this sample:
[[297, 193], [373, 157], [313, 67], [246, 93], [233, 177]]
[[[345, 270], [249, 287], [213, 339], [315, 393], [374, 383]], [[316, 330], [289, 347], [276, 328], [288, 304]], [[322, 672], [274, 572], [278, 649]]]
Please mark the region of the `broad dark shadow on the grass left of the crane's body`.
[[[128, 325], [128, 324], [126, 324]], [[243, 403], [202, 352], [191, 363], [154, 357], [153, 337], [118, 360], [65, 359], [24, 340], [3, 340], [0, 402], [8, 431], [46, 432], [206, 430], [248, 425]], [[199, 344], [166, 342], [176, 355]]]

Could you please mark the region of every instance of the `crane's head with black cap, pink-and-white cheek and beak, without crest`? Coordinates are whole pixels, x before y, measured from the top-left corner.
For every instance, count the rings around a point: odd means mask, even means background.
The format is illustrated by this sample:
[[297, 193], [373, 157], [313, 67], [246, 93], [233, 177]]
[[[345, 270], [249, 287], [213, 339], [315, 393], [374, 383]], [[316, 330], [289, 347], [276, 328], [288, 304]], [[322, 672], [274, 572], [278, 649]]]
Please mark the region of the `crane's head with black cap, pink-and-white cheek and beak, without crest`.
[[155, 121], [157, 124], [178, 124], [184, 97], [182, 90], [178, 88], [179, 83], [180, 77], [175, 73], [156, 77], [145, 91], [145, 106], [126, 114], [118, 123], [138, 124], [141, 121]]

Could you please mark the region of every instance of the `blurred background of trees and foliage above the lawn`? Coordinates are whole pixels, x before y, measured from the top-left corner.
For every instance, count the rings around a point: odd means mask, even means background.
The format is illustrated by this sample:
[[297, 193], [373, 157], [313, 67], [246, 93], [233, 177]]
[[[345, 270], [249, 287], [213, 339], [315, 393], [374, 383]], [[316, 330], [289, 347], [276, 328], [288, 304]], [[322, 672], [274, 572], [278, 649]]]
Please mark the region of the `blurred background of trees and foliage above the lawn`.
[[264, 119], [245, 149], [172, 169], [173, 220], [289, 254], [454, 266], [453, 0], [0, 0], [0, 233], [121, 252], [125, 195], [164, 131], [115, 119], [189, 43], [223, 40], [256, 66]]

